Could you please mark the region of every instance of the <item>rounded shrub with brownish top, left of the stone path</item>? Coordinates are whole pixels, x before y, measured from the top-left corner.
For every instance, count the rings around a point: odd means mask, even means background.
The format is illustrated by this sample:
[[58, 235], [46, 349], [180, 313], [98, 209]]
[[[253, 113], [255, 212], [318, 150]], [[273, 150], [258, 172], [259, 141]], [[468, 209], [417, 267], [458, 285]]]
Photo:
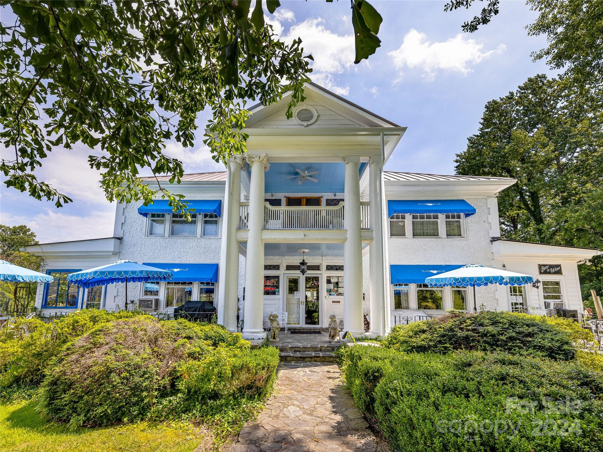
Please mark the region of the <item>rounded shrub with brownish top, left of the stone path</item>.
[[42, 383], [40, 407], [78, 426], [203, 418], [265, 397], [278, 360], [276, 348], [250, 350], [219, 325], [138, 316], [65, 347]]

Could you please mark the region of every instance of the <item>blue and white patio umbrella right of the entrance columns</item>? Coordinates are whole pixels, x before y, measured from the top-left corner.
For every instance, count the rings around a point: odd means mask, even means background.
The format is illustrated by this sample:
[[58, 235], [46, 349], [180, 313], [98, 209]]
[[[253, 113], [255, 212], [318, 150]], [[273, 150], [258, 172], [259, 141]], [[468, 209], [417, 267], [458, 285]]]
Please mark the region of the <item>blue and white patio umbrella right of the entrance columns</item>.
[[473, 286], [473, 310], [477, 312], [475, 301], [475, 286], [487, 286], [488, 284], [500, 284], [502, 286], [525, 286], [532, 284], [534, 278], [530, 275], [499, 270], [497, 268], [485, 267], [483, 265], [470, 264], [441, 273], [439, 275], [425, 278], [425, 284], [429, 287], [445, 286]]

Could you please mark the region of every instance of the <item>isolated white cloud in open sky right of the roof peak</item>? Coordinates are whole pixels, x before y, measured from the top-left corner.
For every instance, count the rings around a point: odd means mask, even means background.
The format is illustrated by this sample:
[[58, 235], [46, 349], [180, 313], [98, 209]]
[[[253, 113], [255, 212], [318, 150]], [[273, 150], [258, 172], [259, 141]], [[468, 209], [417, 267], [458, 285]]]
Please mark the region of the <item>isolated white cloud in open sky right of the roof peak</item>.
[[504, 44], [487, 52], [482, 51], [483, 44], [478, 44], [475, 39], [459, 33], [444, 42], [429, 42], [425, 33], [420, 33], [414, 28], [406, 33], [399, 49], [388, 52], [393, 60], [394, 68], [401, 70], [403, 67], [418, 68], [423, 71], [423, 76], [434, 80], [438, 70], [460, 72], [463, 75], [472, 72], [470, 65], [478, 64], [494, 53], [504, 52]]

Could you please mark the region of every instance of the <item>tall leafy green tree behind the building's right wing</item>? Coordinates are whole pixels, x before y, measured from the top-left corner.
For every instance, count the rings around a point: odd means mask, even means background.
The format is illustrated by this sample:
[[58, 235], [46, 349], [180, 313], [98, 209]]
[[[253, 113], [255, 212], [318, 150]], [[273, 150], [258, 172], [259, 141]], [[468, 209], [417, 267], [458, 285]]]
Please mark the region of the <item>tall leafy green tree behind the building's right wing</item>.
[[[499, 197], [504, 238], [603, 248], [601, 90], [529, 78], [486, 104], [455, 162], [457, 174], [517, 179]], [[598, 278], [584, 282], [601, 284]]]

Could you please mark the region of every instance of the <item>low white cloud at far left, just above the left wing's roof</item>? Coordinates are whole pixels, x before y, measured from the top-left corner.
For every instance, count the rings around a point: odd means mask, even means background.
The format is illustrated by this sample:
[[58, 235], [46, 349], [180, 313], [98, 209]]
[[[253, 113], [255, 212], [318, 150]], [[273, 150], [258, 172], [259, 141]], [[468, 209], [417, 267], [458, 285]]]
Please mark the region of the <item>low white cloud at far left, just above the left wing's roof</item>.
[[0, 216], [5, 225], [28, 225], [36, 232], [40, 243], [65, 242], [112, 237], [115, 207], [107, 204], [106, 210], [93, 210], [86, 216], [68, 215], [52, 209], [27, 216], [1, 212]]

